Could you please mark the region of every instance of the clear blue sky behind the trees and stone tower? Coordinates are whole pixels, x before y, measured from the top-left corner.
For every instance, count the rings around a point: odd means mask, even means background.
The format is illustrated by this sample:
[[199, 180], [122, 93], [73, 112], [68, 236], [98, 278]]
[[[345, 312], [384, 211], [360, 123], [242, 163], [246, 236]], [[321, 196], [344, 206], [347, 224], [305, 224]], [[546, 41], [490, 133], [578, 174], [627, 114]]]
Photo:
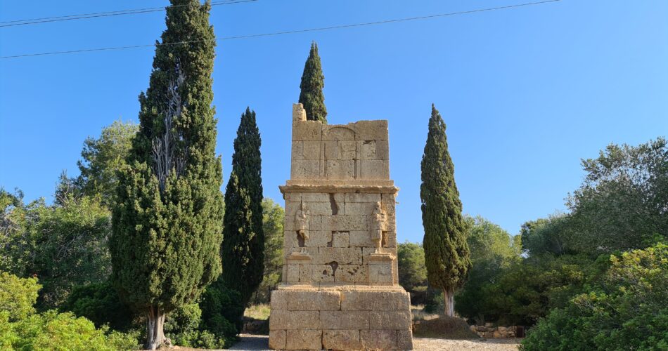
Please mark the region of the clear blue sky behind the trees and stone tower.
[[[259, 0], [214, 6], [217, 37], [520, 4], [522, 0]], [[0, 22], [165, 6], [166, 0], [1, 1]], [[399, 240], [421, 241], [420, 159], [430, 105], [444, 117], [464, 212], [515, 234], [564, 211], [580, 159], [668, 131], [668, 1], [550, 4], [220, 41], [214, 105], [224, 178], [240, 114], [257, 112], [264, 195], [283, 203], [290, 113], [311, 40], [330, 124], [390, 121]], [[164, 12], [0, 27], [0, 56], [151, 44]], [[0, 186], [53, 199], [88, 135], [137, 120], [153, 48], [0, 60]]]

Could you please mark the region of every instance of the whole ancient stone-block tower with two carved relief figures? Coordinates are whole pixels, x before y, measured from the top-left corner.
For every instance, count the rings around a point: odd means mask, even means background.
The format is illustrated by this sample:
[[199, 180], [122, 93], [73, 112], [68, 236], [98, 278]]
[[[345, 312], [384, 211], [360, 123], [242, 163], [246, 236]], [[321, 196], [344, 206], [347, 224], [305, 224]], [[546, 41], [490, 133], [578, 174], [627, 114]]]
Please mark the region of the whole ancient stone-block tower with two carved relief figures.
[[411, 350], [398, 284], [387, 121], [323, 125], [293, 105], [283, 282], [271, 293], [275, 350]]

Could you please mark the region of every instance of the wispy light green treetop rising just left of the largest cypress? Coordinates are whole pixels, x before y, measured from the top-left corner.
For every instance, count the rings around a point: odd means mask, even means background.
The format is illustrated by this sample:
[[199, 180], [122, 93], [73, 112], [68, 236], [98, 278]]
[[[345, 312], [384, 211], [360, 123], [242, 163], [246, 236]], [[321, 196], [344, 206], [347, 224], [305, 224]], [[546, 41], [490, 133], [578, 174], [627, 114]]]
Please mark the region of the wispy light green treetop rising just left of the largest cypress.
[[99, 195], [106, 206], [113, 204], [117, 172], [125, 164], [139, 126], [133, 122], [114, 121], [102, 129], [99, 138], [88, 137], [77, 161], [81, 172], [76, 184], [84, 195]]

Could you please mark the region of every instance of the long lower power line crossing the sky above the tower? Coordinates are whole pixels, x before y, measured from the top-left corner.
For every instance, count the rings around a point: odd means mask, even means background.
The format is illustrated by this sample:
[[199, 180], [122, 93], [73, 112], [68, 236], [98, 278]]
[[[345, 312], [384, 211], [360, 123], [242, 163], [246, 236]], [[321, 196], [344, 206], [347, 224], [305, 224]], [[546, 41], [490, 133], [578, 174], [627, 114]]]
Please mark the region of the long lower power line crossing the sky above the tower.
[[[349, 25], [335, 25], [335, 26], [330, 26], [330, 27], [295, 29], [295, 30], [288, 30], [288, 31], [284, 31], [284, 32], [273, 32], [273, 33], [262, 33], [262, 34], [245, 34], [245, 35], [238, 35], [238, 36], [233, 36], [233, 37], [221, 37], [221, 38], [218, 38], [218, 39], [215, 39], [215, 40], [216, 41], [224, 41], [224, 40], [233, 40], [233, 39], [249, 39], [249, 38], [257, 38], [257, 37], [271, 37], [271, 36], [283, 35], [283, 34], [318, 32], [318, 31], [330, 30], [330, 29], [362, 27], [362, 26], [368, 26], [368, 25], [381, 25], [381, 24], [385, 24], [385, 23], [405, 22], [405, 21], [410, 21], [410, 20], [426, 20], [426, 19], [430, 19], [430, 18], [439, 18], [439, 17], [446, 17], [446, 16], [452, 16], [452, 15], [465, 15], [465, 14], [469, 14], [469, 13], [506, 10], [506, 9], [509, 9], [509, 8], [518, 8], [518, 7], [523, 7], [523, 6], [548, 4], [548, 3], [558, 2], [558, 1], [561, 1], [561, 0], [545, 0], [545, 1], [524, 3], [524, 4], [498, 6], [498, 7], [492, 7], [492, 8], [479, 8], [479, 9], [476, 9], [476, 10], [469, 10], [469, 11], [439, 13], [439, 14], [436, 14], [436, 15], [425, 15], [425, 16], [419, 16], [419, 17], [398, 18], [398, 19], [394, 19], [394, 20], [382, 20], [382, 21], [377, 21], [377, 22], [363, 22], [363, 23], [354, 23], [354, 24], [349, 24]], [[174, 43], [162, 43], [162, 44], [115, 46], [115, 47], [110, 47], [110, 48], [88, 48], [88, 49], [79, 49], [79, 50], [70, 50], [70, 51], [53, 51], [53, 52], [49, 52], [49, 53], [27, 53], [27, 54], [22, 54], [22, 55], [0, 56], [0, 59], [25, 58], [25, 57], [29, 57], [29, 56], [59, 55], [59, 54], [65, 54], [65, 53], [86, 53], [86, 52], [91, 52], [91, 51], [123, 50], [123, 49], [128, 49], [128, 48], [146, 48], [146, 47], [150, 47], [150, 46], [171, 46], [171, 45], [200, 43], [200, 42], [203, 42], [203, 41], [205, 41], [205, 40], [178, 41], [178, 42], [174, 42]]]

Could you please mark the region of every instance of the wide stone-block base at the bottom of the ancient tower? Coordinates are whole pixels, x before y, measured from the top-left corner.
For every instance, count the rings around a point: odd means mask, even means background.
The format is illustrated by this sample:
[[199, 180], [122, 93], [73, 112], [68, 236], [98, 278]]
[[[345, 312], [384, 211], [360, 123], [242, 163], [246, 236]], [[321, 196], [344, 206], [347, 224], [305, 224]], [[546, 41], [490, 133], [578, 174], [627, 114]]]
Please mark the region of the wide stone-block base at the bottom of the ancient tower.
[[288, 285], [271, 293], [273, 350], [412, 350], [401, 286]]

